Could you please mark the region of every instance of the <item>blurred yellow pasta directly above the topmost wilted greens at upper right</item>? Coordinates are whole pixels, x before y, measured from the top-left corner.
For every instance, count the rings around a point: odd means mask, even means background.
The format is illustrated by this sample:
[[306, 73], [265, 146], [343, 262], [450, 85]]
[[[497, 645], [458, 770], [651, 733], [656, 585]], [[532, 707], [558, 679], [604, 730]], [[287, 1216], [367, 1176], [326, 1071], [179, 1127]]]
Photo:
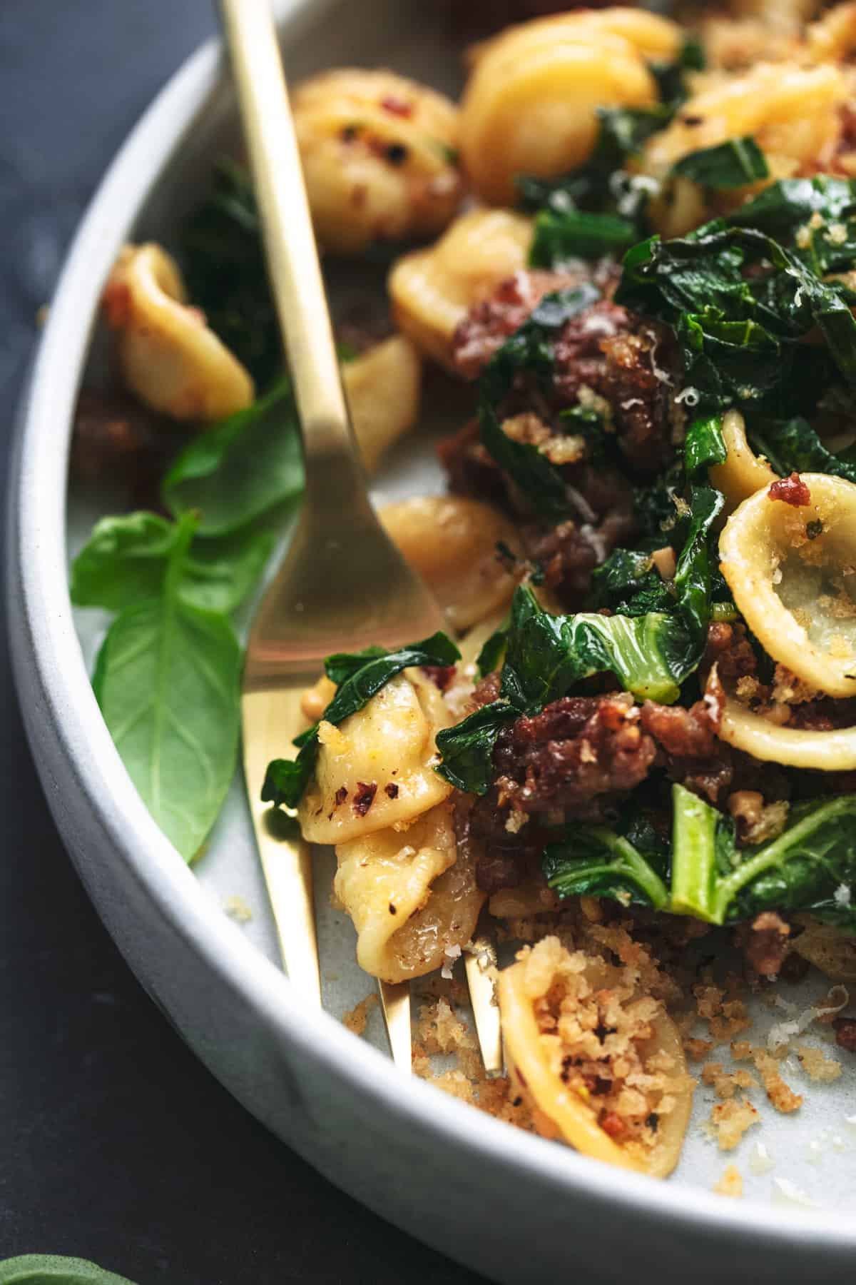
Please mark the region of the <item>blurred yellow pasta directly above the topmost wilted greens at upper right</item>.
[[[665, 177], [690, 152], [751, 135], [765, 154], [770, 176], [828, 167], [841, 137], [847, 98], [843, 72], [832, 64], [760, 63], [734, 76], [715, 76], [694, 93], [672, 123], [655, 134], [642, 168]], [[723, 198], [720, 198], [723, 199]], [[732, 194], [739, 200], [739, 194]], [[652, 217], [669, 236], [689, 231], [703, 207], [653, 204]]]

